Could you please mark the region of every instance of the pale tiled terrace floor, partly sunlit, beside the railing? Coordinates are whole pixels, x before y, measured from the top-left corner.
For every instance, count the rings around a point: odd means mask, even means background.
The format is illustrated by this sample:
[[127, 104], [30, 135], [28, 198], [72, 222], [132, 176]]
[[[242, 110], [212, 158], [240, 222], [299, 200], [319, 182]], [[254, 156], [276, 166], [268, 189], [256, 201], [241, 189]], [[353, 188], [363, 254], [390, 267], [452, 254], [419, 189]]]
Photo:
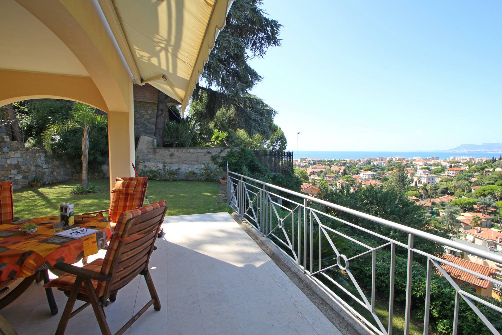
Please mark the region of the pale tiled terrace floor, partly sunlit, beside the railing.
[[[126, 334], [340, 334], [227, 213], [166, 217], [164, 231], [150, 261], [162, 309], [150, 307]], [[20, 335], [53, 334], [67, 299], [54, 294], [57, 315], [41, 283], [0, 314]], [[149, 299], [139, 277], [121, 289], [105, 308], [112, 333]], [[100, 334], [92, 308], [66, 333]]]

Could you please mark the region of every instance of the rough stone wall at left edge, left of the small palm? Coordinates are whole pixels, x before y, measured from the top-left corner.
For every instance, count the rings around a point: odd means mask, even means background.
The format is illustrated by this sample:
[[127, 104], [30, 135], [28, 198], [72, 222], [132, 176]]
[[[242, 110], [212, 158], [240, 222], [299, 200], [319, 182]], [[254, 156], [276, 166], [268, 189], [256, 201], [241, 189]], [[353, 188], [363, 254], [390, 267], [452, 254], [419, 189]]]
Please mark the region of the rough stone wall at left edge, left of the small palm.
[[3, 139], [0, 137], [0, 180], [12, 181], [14, 189], [30, 186], [35, 177], [43, 183], [72, 179], [72, 164], [53, 159], [44, 149], [27, 149]]

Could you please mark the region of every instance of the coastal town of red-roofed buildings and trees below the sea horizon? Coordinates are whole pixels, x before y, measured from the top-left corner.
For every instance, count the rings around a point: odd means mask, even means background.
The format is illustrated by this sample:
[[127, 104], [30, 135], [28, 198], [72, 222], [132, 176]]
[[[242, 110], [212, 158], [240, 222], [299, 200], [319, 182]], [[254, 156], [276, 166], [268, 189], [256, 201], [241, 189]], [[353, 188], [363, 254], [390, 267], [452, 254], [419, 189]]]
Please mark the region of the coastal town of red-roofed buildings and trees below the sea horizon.
[[[294, 165], [295, 173], [304, 181], [302, 192], [311, 196], [323, 190], [353, 193], [365, 187], [395, 186], [423, 207], [429, 222], [449, 229], [454, 241], [493, 253], [502, 251], [502, 156], [299, 158]], [[466, 269], [502, 279], [502, 264], [448, 247], [444, 257]], [[469, 283], [477, 294], [500, 299], [498, 285], [463, 271], [456, 277]]]

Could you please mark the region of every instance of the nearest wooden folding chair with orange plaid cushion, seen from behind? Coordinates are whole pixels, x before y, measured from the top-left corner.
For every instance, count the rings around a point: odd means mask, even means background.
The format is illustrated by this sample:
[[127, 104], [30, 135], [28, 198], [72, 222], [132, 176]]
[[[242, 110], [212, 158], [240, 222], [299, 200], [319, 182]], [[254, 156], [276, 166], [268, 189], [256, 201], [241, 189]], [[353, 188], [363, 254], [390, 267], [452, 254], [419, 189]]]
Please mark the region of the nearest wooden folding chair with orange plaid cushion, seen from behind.
[[[82, 268], [56, 263], [56, 269], [67, 272], [44, 287], [57, 287], [68, 296], [56, 335], [65, 332], [71, 317], [91, 305], [102, 334], [111, 335], [104, 307], [115, 301], [119, 289], [137, 275], [143, 275], [152, 298], [136, 315], [124, 324], [115, 335], [126, 331], [152, 304], [160, 310], [159, 296], [150, 276], [148, 263], [157, 240], [157, 232], [166, 215], [166, 201], [157, 201], [141, 208], [120, 214], [104, 259], [97, 259]], [[86, 303], [73, 310], [76, 300]]]

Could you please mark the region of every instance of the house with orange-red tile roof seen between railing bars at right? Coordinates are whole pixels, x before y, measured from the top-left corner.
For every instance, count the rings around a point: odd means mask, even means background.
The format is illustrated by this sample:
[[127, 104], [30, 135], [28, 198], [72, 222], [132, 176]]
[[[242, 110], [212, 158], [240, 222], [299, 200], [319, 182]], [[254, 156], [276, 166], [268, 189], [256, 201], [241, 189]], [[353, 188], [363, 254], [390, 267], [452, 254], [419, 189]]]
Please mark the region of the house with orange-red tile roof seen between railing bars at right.
[[[474, 263], [474, 262], [468, 261], [466, 259], [452, 256], [449, 254], [443, 254], [443, 258], [450, 263], [461, 266], [467, 270], [471, 270], [471, 271], [480, 273], [486, 277], [493, 277], [493, 274], [496, 271], [495, 268], [491, 268], [491, 267], [488, 267], [485, 265]], [[485, 297], [493, 297], [493, 298], [499, 299], [498, 295], [493, 292], [493, 283], [491, 283], [487, 280], [483, 280], [483, 279], [481, 279], [473, 274], [470, 274], [468, 272], [454, 268], [448, 264], [442, 264], [441, 267], [446, 272], [448, 272], [451, 275], [451, 277], [453, 277], [453, 280], [455, 282], [469, 283], [476, 290], [476, 294], [481, 295], [481, 296], [485, 296]]]

